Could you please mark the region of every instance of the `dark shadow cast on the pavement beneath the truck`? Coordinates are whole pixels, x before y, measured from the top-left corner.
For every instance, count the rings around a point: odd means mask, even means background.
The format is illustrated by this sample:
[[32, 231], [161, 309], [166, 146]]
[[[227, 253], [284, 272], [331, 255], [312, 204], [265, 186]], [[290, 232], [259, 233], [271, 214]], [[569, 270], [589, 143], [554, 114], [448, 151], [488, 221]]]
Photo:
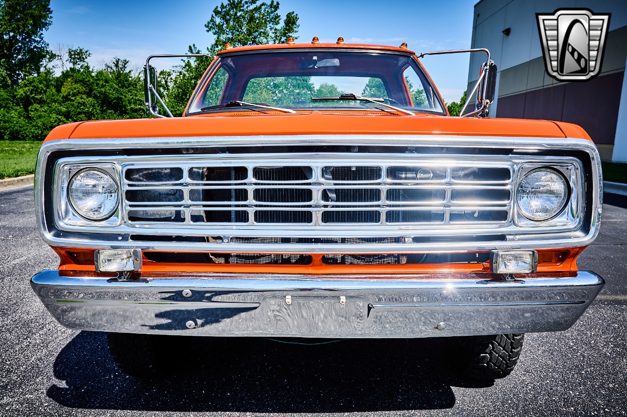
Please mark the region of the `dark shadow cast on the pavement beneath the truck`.
[[72, 408], [145, 411], [335, 412], [442, 409], [453, 370], [449, 339], [354, 339], [317, 346], [260, 338], [198, 338], [172, 352], [179, 374], [142, 380], [118, 371], [106, 337], [80, 332], [58, 354], [47, 395]]

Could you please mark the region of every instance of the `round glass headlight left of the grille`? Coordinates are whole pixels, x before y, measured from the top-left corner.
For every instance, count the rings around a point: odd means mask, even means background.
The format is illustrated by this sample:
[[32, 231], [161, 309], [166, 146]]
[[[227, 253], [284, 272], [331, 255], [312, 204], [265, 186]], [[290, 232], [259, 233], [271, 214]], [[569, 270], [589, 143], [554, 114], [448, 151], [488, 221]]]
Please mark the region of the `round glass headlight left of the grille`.
[[88, 220], [105, 220], [118, 208], [118, 187], [110, 174], [85, 168], [71, 177], [68, 184], [70, 204]]

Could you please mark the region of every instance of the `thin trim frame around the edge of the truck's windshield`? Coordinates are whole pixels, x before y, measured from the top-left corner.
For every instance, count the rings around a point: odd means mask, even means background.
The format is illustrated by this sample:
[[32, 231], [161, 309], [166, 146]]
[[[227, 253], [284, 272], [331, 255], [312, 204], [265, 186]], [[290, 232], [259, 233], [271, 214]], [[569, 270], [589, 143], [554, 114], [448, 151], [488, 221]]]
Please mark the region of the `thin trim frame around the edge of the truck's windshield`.
[[[437, 114], [437, 115], [443, 115], [446, 116], [448, 115], [448, 112], [446, 110], [446, 103], [444, 102], [444, 100], [442, 99], [441, 95], [440, 95], [440, 91], [435, 87], [435, 84], [433, 83], [433, 80], [431, 80], [431, 76], [429, 75], [429, 73], [424, 69], [423, 65], [421, 64], [421, 62], [418, 60], [418, 56], [416, 56], [416, 54], [414, 54], [411, 51], [393, 51], [393, 50], [378, 50], [378, 49], [370, 49], [370, 48], [351, 48], [350, 46], [348, 47], [344, 47], [344, 48], [298, 48], [298, 49], [264, 49], [264, 50], [246, 50], [246, 51], [229, 51], [228, 53], [223, 53], [220, 54], [218, 56], [216, 56], [216, 59], [213, 60], [213, 62], [209, 65], [209, 67], [207, 68], [207, 70], [205, 71], [203, 78], [201, 78], [201, 81], [198, 83], [198, 85], [196, 85], [196, 90], [194, 90], [194, 93], [192, 94], [192, 97], [190, 98], [189, 102], [187, 102], [187, 106], [185, 107], [185, 112], [184, 112], [184, 116], [192, 116], [192, 115], [199, 115], [199, 114], [207, 114], [207, 112], [189, 112], [189, 108], [191, 107], [192, 103], [194, 103], [196, 101], [196, 98], [198, 98], [199, 93], [201, 92], [201, 90], [203, 90], [203, 88], [206, 86], [206, 83], [208, 82], [208, 78], [209, 77], [213, 77], [214, 73], [216, 70], [218, 70], [218, 68], [220, 67], [220, 63], [222, 61], [222, 57], [223, 56], [233, 56], [233, 55], [257, 55], [260, 53], [290, 53], [290, 52], [303, 52], [303, 53], [307, 53], [307, 52], [344, 52], [350, 50], [352, 51], [351, 53], [377, 53], [377, 54], [389, 54], [389, 55], [405, 55], [405, 56], [409, 56], [409, 58], [411, 60], [414, 61], [414, 63], [416, 63], [416, 66], [418, 66], [419, 70], [422, 71], [425, 80], [429, 83], [429, 87], [431, 87], [431, 89], [435, 92], [435, 94], [433, 95], [434, 100], [436, 100], [438, 103], [440, 103], [440, 106], [442, 108], [441, 112], [436, 112], [435, 110], [422, 110], [422, 109], [414, 109], [412, 108], [411, 111], [414, 113], [429, 113], [429, 114]], [[292, 107], [288, 107], [288, 108], [292, 108]], [[337, 107], [335, 107], [337, 108]], [[305, 110], [306, 108], [303, 107], [294, 107], [292, 108], [292, 110]]]

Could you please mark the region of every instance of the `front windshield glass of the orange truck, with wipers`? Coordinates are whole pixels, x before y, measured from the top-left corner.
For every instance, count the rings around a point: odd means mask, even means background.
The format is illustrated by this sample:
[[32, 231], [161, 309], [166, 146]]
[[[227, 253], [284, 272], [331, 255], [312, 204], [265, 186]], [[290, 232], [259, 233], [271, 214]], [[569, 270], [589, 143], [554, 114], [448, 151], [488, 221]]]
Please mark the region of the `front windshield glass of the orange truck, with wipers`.
[[[223, 107], [233, 102], [294, 110], [393, 112], [381, 105], [385, 103], [414, 112], [445, 113], [420, 66], [404, 54], [256, 52], [221, 56], [214, 68], [198, 89], [188, 113], [241, 112], [241, 106]], [[356, 100], [349, 95], [383, 100]], [[329, 99], [320, 99], [324, 97]]]

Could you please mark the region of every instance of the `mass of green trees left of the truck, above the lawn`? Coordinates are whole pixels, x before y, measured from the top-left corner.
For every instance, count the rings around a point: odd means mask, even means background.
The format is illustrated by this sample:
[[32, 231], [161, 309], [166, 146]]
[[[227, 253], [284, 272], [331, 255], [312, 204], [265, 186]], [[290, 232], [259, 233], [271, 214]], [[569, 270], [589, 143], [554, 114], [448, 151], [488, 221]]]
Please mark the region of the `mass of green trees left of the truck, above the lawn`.
[[95, 69], [84, 48], [48, 49], [51, 13], [50, 0], [0, 0], [0, 140], [43, 140], [70, 122], [145, 117], [142, 80], [128, 60]]

